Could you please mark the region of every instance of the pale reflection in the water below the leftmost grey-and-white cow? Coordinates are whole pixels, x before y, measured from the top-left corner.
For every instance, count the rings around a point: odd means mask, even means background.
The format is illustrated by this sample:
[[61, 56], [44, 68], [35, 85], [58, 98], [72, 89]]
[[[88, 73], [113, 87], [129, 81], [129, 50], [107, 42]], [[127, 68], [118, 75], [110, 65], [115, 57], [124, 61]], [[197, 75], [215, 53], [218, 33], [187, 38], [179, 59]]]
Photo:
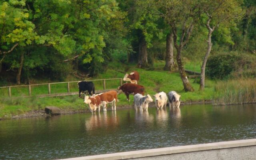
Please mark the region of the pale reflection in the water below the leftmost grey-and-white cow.
[[144, 124], [152, 124], [154, 121], [154, 116], [148, 114], [148, 110], [144, 111], [135, 111], [135, 123], [139, 125], [144, 125]]

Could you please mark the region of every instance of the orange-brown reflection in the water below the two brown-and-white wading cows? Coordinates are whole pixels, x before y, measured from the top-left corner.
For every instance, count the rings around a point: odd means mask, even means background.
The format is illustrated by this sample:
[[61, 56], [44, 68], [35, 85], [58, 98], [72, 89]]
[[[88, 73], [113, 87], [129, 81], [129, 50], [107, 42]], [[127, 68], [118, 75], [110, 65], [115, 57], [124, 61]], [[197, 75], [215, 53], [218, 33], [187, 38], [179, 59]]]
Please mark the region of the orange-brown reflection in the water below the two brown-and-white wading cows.
[[86, 119], [86, 130], [95, 130], [98, 128], [115, 128], [119, 124], [119, 118], [116, 116], [116, 111], [102, 112], [92, 114], [89, 119]]

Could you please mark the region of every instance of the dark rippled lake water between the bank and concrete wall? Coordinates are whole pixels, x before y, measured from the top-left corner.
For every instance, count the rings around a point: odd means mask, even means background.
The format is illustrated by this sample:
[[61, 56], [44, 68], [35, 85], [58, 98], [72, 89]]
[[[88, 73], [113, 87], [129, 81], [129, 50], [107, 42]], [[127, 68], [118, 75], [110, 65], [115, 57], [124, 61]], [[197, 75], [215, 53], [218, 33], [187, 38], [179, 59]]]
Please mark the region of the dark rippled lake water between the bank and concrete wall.
[[256, 138], [256, 104], [0, 121], [0, 159], [52, 160]]

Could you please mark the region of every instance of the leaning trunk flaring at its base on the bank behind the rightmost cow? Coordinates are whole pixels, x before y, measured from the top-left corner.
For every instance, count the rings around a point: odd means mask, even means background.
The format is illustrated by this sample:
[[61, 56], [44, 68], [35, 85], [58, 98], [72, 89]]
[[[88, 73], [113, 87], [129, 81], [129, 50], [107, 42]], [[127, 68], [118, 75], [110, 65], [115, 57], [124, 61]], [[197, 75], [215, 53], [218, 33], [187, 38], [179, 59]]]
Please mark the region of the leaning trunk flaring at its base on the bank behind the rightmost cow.
[[177, 60], [178, 68], [179, 68], [180, 78], [181, 78], [183, 86], [184, 86], [184, 90], [186, 92], [194, 92], [194, 88], [191, 86], [190, 82], [188, 81], [187, 75], [186, 75], [185, 70], [184, 70], [184, 66], [182, 64], [181, 48], [177, 49], [177, 58], [176, 58], [176, 60]]

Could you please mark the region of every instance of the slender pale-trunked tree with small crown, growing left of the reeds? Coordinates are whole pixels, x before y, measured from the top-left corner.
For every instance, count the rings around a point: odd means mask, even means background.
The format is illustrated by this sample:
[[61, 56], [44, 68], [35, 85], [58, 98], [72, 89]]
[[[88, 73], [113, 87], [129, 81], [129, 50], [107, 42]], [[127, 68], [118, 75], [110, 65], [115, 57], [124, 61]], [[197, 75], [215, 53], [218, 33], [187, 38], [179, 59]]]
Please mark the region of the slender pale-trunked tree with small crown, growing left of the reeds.
[[240, 8], [239, 2], [236, 0], [215, 0], [214, 2], [206, 0], [202, 2], [202, 6], [208, 18], [205, 24], [208, 29], [206, 41], [208, 47], [201, 66], [200, 90], [204, 90], [205, 67], [208, 56], [212, 50], [212, 33], [220, 23], [230, 23], [230, 21], [234, 21], [242, 16], [242, 9]]

